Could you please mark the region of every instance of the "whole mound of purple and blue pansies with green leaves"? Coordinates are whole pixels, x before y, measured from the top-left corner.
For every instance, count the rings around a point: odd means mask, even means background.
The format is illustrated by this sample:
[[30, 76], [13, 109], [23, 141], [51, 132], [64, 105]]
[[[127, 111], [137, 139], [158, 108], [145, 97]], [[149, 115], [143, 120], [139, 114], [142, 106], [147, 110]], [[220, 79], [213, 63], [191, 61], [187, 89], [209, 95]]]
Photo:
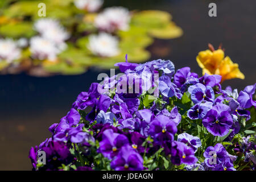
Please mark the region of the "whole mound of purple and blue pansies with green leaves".
[[[238, 94], [221, 88], [221, 76], [199, 77], [188, 67], [175, 72], [170, 60], [116, 66], [122, 76], [92, 83], [49, 127], [52, 137], [31, 148], [34, 169], [236, 170], [236, 150], [242, 149], [230, 143], [245, 135], [242, 123], [255, 109], [256, 84]], [[247, 155], [250, 150], [255, 164], [250, 141]], [[46, 164], [38, 161], [40, 150]]]

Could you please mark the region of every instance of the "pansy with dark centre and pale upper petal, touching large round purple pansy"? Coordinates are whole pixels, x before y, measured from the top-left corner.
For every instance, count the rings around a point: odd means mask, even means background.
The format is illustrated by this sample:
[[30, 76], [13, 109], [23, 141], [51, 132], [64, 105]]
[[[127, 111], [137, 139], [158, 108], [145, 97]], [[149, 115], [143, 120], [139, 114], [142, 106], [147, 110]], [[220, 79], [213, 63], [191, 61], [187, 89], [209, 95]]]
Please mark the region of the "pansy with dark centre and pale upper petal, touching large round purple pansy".
[[198, 103], [188, 110], [187, 115], [190, 119], [202, 119], [212, 109], [212, 105], [212, 102]]

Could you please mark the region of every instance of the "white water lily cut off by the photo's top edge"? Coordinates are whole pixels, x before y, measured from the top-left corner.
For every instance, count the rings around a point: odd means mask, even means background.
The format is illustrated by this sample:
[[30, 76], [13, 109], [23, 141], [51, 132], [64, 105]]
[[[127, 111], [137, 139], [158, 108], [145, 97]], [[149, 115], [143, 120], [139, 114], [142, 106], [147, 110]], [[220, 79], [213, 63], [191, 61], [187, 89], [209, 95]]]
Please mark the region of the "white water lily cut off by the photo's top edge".
[[87, 10], [89, 12], [95, 12], [102, 6], [104, 1], [102, 0], [75, 0], [75, 6], [80, 10]]

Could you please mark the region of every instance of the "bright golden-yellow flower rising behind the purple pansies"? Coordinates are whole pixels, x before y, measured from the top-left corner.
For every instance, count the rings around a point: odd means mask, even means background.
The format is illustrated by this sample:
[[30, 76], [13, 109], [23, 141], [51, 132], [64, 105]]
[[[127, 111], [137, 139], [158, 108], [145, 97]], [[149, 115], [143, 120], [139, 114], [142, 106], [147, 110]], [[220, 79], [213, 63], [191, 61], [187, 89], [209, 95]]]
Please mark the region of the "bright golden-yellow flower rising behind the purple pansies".
[[199, 52], [196, 57], [199, 67], [203, 69], [203, 75], [221, 75], [221, 82], [232, 78], [244, 79], [245, 76], [240, 72], [238, 64], [233, 63], [229, 56], [224, 58], [224, 51], [222, 49]]

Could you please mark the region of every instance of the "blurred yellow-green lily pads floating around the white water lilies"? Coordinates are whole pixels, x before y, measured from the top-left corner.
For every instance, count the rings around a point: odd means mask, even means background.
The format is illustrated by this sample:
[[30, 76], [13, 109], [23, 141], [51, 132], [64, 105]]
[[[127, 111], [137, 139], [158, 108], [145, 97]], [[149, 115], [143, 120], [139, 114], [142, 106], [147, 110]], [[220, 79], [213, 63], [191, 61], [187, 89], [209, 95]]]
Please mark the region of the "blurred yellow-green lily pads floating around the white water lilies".
[[[0, 38], [30, 39], [38, 33], [34, 30], [34, 22], [38, 16], [38, 4], [42, 1], [6, 0], [0, 3]], [[94, 55], [86, 45], [91, 34], [99, 30], [94, 26], [97, 13], [89, 13], [77, 9], [73, 0], [45, 0], [46, 18], [60, 21], [71, 37], [66, 41], [67, 49], [61, 52], [56, 61], [36, 60], [31, 57], [28, 47], [23, 48], [20, 59], [14, 63], [0, 61], [0, 72], [27, 72], [34, 76], [48, 76], [52, 73], [77, 75], [89, 67], [110, 68], [123, 61], [126, 53], [129, 61], [142, 62], [150, 58], [146, 49], [158, 39], [174, 39], [183, 34], [180, 27], [172, 22], [170, 13], [159, 10], [130, 11], [129, 29], [117, 30], [112, 34], [118, 36], [120, 53], [112, 57]]]

